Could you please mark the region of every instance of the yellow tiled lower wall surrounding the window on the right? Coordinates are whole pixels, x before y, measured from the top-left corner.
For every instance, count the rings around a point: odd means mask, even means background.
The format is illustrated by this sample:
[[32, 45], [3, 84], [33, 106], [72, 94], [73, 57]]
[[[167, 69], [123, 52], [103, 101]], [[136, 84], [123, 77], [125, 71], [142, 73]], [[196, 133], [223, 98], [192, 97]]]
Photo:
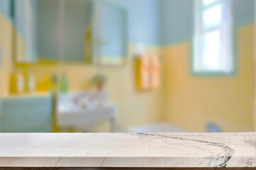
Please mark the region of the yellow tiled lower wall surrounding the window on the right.
[[208, 121], [225, 132], [253, 130], [254, 26], [238, 30], [238, 74], [193, 77], [191, 43], [165, 47], [166, 119], [187, 130], [203, 132]]

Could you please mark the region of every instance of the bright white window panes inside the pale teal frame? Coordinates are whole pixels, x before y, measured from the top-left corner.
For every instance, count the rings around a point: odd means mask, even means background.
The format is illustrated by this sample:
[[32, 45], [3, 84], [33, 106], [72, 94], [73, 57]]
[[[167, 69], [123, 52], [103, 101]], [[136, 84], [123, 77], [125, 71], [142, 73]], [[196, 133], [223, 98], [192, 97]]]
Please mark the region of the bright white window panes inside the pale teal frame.
[[193, 72], [233, 72], [230, 0], [195, 0]]

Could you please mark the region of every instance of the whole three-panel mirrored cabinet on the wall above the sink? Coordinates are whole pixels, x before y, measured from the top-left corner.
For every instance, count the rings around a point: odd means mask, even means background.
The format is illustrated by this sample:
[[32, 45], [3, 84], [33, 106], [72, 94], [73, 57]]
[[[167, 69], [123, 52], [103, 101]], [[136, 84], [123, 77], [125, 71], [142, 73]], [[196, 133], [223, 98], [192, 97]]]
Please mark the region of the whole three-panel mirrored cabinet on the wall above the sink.
[[18, 30], [14, 31], [14, 58], [18, 63], [124, 63], [124, 8], [89, 0], [14, 0], [11, 8]]

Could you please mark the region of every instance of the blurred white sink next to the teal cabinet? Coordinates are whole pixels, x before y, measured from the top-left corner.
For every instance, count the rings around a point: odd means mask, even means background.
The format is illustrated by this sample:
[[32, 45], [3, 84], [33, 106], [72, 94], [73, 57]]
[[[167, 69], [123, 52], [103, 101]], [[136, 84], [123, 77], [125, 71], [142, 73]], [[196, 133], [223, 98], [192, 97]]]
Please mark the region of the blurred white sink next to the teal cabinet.
[[102, 120], [110, 121], [110, 131], [114, 132], [116, 106], [110, 103], [96, 105], [88, 99], [86, 92], [59, 94], [57, 100], [57, 123], [62, 128], [87, 130]]

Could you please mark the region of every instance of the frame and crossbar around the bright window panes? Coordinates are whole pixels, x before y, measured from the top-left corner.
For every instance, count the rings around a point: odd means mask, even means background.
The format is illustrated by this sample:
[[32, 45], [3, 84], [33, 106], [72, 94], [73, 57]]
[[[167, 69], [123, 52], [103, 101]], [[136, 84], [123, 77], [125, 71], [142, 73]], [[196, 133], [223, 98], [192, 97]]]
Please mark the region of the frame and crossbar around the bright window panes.
[[[213, 31], [213, 30], [222, 30], [224, 27], [226, 31], [228, 31], [228, 37], [225, 38], [226, 43], [228, 45], [229, 50], [228, 51], [228, 57], [230, 57], [230, 70], [224, 71], [224, 70], [210, 70], [210, 69], [198, 69], [196, 67], [200, 64], [201, 55], [198, 55], [198, 52], [201, 52], [200, 45], [201, 45], [201, 38], [203, 37], [203, 11], [205, 11], [208, 8], [211, 8], [213, 6], [216, 6], [218, 4], [223, 3], [224, 8], [228, 9], [228, 23], [223, 24], [224, 22], [221, 21], [220, 26], [213, 26], [208, 29], [204, 30], [204, 34], [207, 32]], [[225, 13], [225, 15], [227, 15]], [[232, 17], [232, 2], [231, 0], [217, 0], [211, 4], [208, 4], [203, 7], [203, 0], [194, 0], [194, 35], [191, 45], [191, 74], [193, 76], [235, 76], [237, 74], [237, 57], [235, 56], [235, 41], [233, 41], [234, 31], [233, 31], [233, 17]], [[220, 31], [222, 33], [222, 31]], [[222, 45], [220, 44], [220, 47]], [[197, 60], [197, 61], [196, 61]]]

